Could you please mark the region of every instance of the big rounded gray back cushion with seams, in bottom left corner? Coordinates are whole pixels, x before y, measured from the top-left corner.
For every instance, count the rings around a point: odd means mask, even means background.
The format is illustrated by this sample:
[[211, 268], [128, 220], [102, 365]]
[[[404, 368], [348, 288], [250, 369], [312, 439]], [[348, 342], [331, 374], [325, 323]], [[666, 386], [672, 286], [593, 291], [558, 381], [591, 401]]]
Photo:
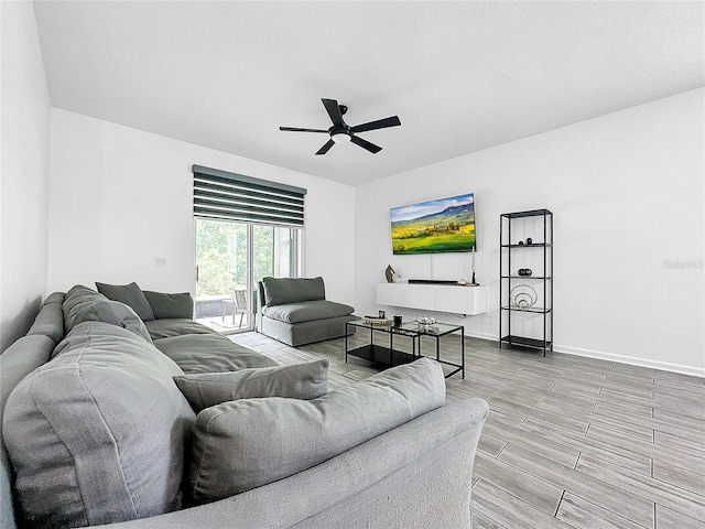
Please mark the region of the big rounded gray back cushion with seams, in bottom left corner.
[[84, 322], [25, 377], [2, 424], [28, 527], [109, 523], [181, 507], [194, 420], [178, 367], [135, 334]]

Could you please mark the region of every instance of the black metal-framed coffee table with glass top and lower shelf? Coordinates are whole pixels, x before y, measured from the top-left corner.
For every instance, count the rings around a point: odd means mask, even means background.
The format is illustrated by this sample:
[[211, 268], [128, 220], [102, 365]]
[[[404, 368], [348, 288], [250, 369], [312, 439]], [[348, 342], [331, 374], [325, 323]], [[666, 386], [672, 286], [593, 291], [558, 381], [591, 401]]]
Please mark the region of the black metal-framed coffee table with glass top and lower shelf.
[[[348, 361], [348, 356], [355, 356], [356, 358], [362, 358], [373, 364], [380, 364], [383, 366], [399, 366], [402, 364], [409, 364], [414, 361], [423, 355], [421, 350], [421, 338], [423, 336], [431, 336], [435, 338], [435, 358], [436, 361], [445, 364], [447, 366], [455, 367], [456, 369], [446, 374], [446, 378], [460, 373], [465, 378], [465, 327], [463, 325], [451, 325], [447, 323], [434, 323], [433, 325], [421, 325], [416, 322], [406, 322], [400, 326], [394, 325], [373, 325], [364, 320], [355, 320], [347, 322], [345, 333], [345, 361]], [[348, 334], [350, 334], [349, 326], [357, 328], [366, 328], [370, 332], [370, 343], [355, 349], [348, 347]], [[444, 360], [441, 358], [441, 338], [452, 333], [460, 333], [460, 364]], [[384, 333], [389, 336], [389, 347], [378, 345], [375, 343], [375, 333]], [[410, 338], [411, 339], [411, 354], [394, 348], [394, 338]]]

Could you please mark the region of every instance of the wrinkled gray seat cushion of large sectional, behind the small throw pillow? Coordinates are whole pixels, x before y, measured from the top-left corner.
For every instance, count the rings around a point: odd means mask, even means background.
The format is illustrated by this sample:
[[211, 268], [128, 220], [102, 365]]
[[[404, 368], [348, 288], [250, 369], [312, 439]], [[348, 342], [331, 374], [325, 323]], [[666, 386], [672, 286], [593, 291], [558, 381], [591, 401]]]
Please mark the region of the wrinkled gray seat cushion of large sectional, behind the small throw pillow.
[[184, 373], [235, 371], [247, 367], [279, 365], [271, 358], [217, 334], [185, 334], [155, 339], [154, 345]]

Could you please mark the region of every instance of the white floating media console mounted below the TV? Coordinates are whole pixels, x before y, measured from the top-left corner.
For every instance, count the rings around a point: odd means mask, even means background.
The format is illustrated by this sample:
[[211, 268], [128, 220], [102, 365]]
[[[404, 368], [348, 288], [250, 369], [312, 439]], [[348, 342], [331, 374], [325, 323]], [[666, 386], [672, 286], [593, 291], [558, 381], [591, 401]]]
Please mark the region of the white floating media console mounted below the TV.
[[377, 304], [473, 316], [487, 312], [487, 287], [378, 283]]

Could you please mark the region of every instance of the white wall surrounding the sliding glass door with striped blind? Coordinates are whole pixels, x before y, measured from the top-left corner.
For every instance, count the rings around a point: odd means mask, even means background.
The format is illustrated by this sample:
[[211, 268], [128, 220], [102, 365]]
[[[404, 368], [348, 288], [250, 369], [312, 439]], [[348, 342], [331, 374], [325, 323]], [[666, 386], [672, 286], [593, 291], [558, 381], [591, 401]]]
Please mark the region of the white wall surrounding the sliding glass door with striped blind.
[[307, 188], [305, 273], [352, 303], [352, 187], [59, 109], [52, 141], [50, 292], [95, 281], [193, 292], [195, 163]]

